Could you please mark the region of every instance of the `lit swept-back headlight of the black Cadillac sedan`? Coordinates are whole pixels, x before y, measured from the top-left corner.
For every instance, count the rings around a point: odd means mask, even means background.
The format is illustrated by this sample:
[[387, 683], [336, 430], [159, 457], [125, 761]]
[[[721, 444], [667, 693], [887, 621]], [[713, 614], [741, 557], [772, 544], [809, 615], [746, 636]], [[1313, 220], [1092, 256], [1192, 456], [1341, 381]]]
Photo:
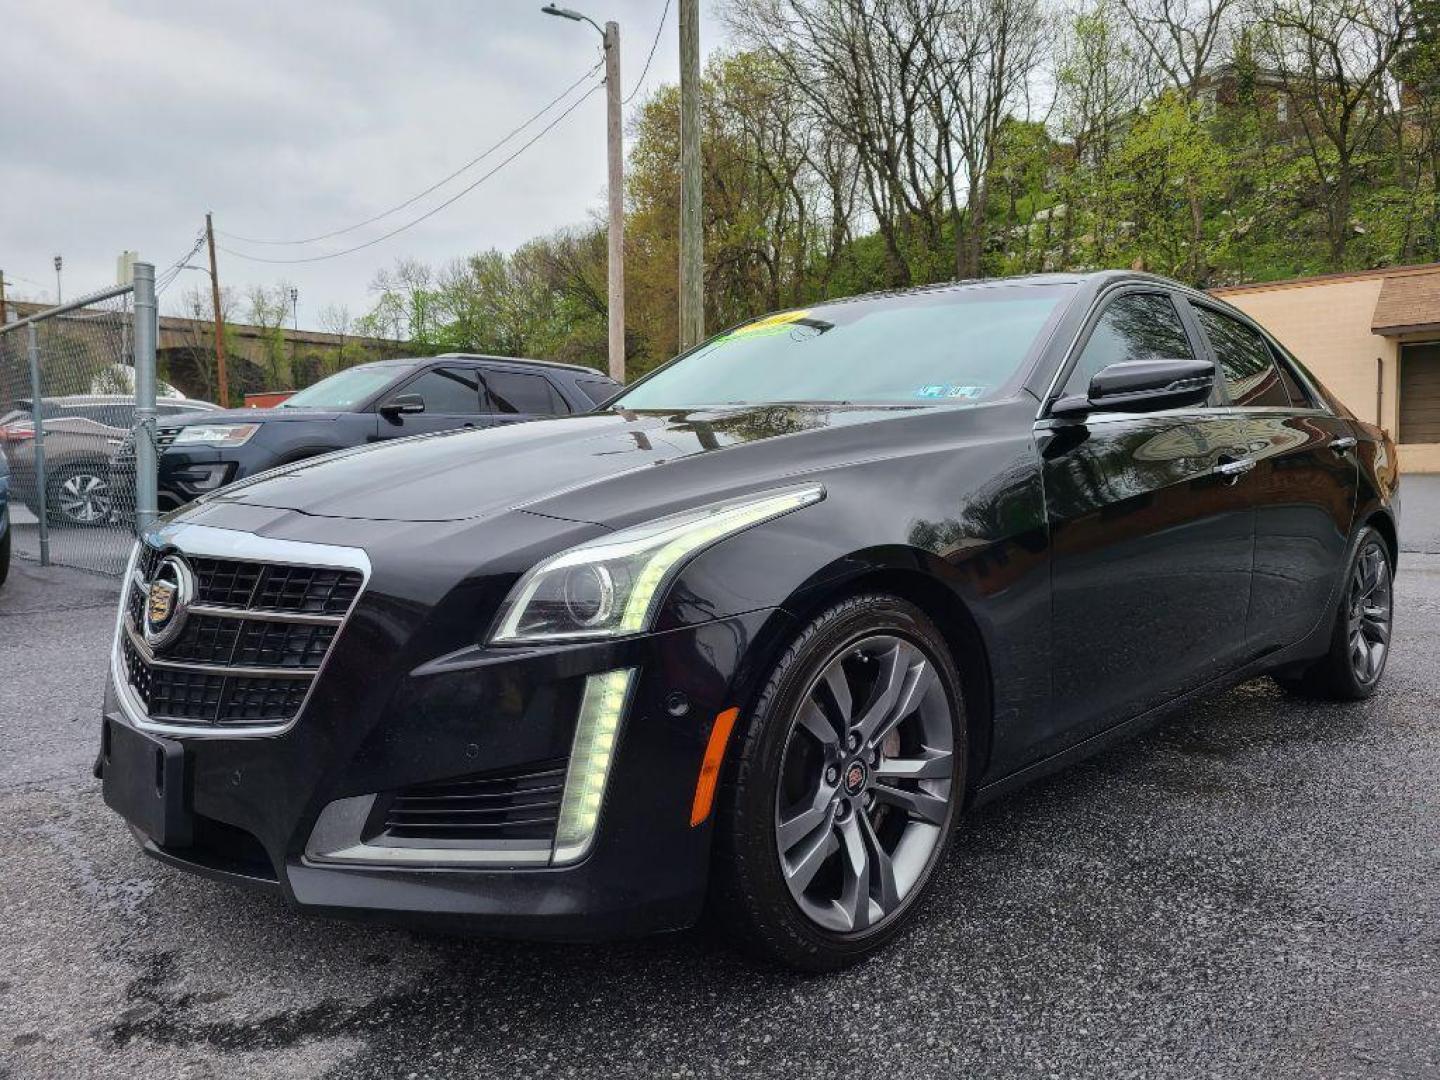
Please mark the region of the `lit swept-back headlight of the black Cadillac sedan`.
[[490, 639], [576, 641], [638, 634], [649, 626], [665, 585], [691, 556], [824, 497], [819, 484], [770, 491], [661, 517], [560, 552], [516, 583]]

